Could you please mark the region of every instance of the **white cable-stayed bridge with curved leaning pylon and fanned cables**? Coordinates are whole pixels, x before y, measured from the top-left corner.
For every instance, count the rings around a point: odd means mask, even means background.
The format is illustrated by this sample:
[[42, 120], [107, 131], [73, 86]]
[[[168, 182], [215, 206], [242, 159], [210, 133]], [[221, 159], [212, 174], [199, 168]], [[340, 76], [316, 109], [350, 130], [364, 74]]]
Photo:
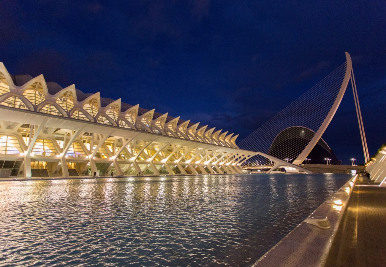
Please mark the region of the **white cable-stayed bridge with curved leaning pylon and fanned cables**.
[[[346, 61], [342, 65], [242, 140], [238, 144], [239, 148], [262, 152], [295, 165], [305, 162], [315, 146], [328, 150], [322, 135], [334, 117], [348, 84], [351, 83], [364, 159], [367, 162], [369, 152], [351, 57], [347, 52], [345, 55]], [[263, 155], [256, 155], [248, 160], [267, 166], [271, 162]], [[269, 172], [282, 166], [282, 163], [275, 162]]]

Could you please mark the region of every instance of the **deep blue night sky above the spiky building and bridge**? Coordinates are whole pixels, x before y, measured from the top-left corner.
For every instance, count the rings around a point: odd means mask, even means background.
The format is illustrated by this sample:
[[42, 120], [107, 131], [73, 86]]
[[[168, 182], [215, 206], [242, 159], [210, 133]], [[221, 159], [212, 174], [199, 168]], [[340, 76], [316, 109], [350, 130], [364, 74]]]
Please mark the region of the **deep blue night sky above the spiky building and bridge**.
[[[369, 153], [386, 142], [384, 1], [2, 1], [0, 61], [239, 133], [352, 56]], [[351, 86], [323, 135], [363, 163]]]

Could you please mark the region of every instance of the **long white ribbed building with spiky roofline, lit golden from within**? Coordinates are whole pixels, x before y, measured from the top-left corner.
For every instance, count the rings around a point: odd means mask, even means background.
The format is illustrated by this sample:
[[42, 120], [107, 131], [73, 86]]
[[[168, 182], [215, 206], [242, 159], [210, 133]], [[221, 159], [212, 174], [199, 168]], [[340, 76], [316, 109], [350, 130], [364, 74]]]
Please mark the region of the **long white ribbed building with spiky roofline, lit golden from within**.
[[240, 173], [238, 135], [0, 63], [0, 177]]

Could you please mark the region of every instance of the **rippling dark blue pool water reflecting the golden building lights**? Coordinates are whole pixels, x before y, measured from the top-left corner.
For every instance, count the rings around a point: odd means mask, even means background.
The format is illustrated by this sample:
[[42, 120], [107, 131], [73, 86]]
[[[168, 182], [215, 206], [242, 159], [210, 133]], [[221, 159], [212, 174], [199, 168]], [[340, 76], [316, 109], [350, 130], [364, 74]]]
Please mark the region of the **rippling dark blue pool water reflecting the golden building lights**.
[[0, 182], [0, 266], [250, 265], [349, 178]]

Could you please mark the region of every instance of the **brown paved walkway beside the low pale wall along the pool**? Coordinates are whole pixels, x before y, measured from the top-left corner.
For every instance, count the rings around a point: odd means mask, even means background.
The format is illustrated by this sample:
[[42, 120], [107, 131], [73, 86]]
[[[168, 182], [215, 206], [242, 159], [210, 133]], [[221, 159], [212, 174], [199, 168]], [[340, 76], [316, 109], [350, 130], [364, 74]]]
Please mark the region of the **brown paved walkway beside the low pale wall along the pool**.
[[326, 266], [386, 266], [386, 188], [357, 180]]

